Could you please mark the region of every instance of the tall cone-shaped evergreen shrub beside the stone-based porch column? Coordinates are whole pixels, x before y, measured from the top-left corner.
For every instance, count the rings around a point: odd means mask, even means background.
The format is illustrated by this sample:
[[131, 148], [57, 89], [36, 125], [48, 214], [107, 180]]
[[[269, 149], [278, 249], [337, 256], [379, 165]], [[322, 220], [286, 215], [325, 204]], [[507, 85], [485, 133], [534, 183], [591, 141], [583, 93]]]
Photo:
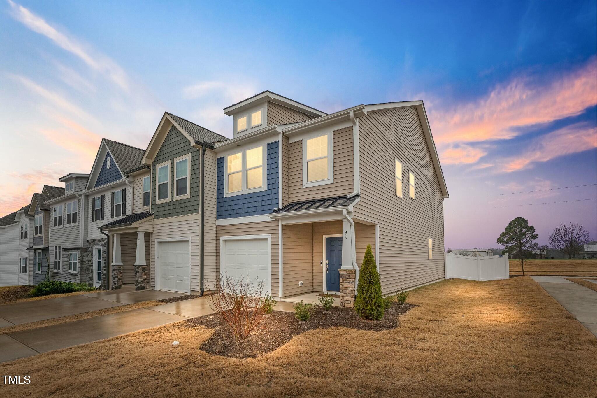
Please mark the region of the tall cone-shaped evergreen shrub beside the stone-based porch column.
[[356, 288], [355, 311], [363, 319], [380, 320], [383, 317], [383, 297], [375, 257], [367, 245]]

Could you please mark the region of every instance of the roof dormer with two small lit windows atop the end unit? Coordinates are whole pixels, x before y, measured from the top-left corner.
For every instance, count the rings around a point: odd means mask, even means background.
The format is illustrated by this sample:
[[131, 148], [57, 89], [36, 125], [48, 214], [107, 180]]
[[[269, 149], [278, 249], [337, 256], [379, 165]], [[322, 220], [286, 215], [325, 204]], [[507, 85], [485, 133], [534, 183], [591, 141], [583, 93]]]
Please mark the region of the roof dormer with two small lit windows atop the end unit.
[[224, 108], [224, 114], [232, 116], [233, 138], [251, 134], [269, 125], [286, 125], [309, 121], [327, 115], [321, 110], [301, 104], [271, 91], [247, 98]]

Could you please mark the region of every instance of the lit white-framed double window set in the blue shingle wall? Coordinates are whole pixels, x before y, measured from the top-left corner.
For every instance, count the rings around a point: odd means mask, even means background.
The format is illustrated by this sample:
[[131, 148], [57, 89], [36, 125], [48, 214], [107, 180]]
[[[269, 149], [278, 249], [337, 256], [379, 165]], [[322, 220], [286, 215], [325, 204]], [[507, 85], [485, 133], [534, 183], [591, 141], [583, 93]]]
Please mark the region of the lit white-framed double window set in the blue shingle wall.
[[265, 145], [260, 145], [226, 156], [224, 196], [242, 195], [267, 189], [265, 148]]

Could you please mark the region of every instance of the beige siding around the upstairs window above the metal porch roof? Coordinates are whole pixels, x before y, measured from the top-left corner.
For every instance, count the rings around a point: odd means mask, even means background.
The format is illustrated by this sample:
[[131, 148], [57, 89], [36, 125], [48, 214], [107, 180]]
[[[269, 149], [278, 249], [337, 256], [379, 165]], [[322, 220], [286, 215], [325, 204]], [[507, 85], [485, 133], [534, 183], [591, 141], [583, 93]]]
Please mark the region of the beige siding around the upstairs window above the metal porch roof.
[[354, 191], [355, 168], [352, 127], [334, 131], [334, 183], [303, 188], [303, 141], [290, 143], [288, 148], [288, 191], [290, 202], [349, 195]]

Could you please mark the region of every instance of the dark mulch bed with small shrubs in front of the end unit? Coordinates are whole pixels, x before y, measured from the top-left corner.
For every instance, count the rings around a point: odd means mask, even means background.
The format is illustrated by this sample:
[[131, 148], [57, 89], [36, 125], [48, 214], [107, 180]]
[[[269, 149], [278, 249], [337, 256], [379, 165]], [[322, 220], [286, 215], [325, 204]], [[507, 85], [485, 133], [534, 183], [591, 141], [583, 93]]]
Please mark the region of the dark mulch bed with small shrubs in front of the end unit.
[[216, 329], [210, 338], [201, 344], [199, 347], [201, 350], [225, 357], [254, 358], [269, 353], [294, 336], [313, 329], [333, 326], [366, 331], [394, 329], [398, 326], [398, 317], [413, 307], [415, 306], [411, 304], [400, 306], [393, 303], [385, 311], [383, 319], [378, 321], [362, 320], [352, 308], [343, 307], [332, 307], [331, 311], [325, 311], [323, 307], [316, 306], [307, 322], [298, 320], [292, 312], [273, 311], [272, 314], [264, 317], [248, 338], [239, 340], [238, 344], [230, 327], [215, 314], [189, 319], [186, 322], [189, 327], [201, 325]]

